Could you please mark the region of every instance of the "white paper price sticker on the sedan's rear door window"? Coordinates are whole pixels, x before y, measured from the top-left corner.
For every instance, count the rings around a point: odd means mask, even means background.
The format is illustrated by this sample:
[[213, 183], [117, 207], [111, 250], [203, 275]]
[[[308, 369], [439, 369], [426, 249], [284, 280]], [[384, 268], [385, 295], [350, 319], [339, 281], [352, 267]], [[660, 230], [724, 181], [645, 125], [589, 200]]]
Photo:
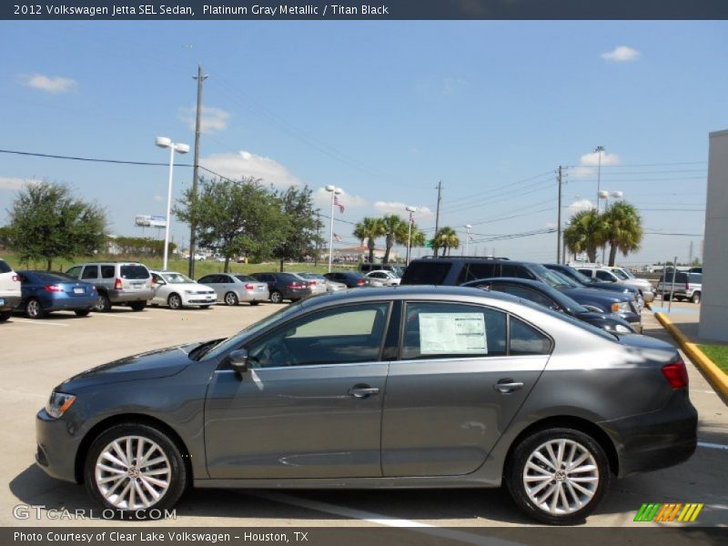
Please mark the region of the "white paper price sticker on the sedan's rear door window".
[[420, 313], [420, 354], [488, 354], [482, 313]]

